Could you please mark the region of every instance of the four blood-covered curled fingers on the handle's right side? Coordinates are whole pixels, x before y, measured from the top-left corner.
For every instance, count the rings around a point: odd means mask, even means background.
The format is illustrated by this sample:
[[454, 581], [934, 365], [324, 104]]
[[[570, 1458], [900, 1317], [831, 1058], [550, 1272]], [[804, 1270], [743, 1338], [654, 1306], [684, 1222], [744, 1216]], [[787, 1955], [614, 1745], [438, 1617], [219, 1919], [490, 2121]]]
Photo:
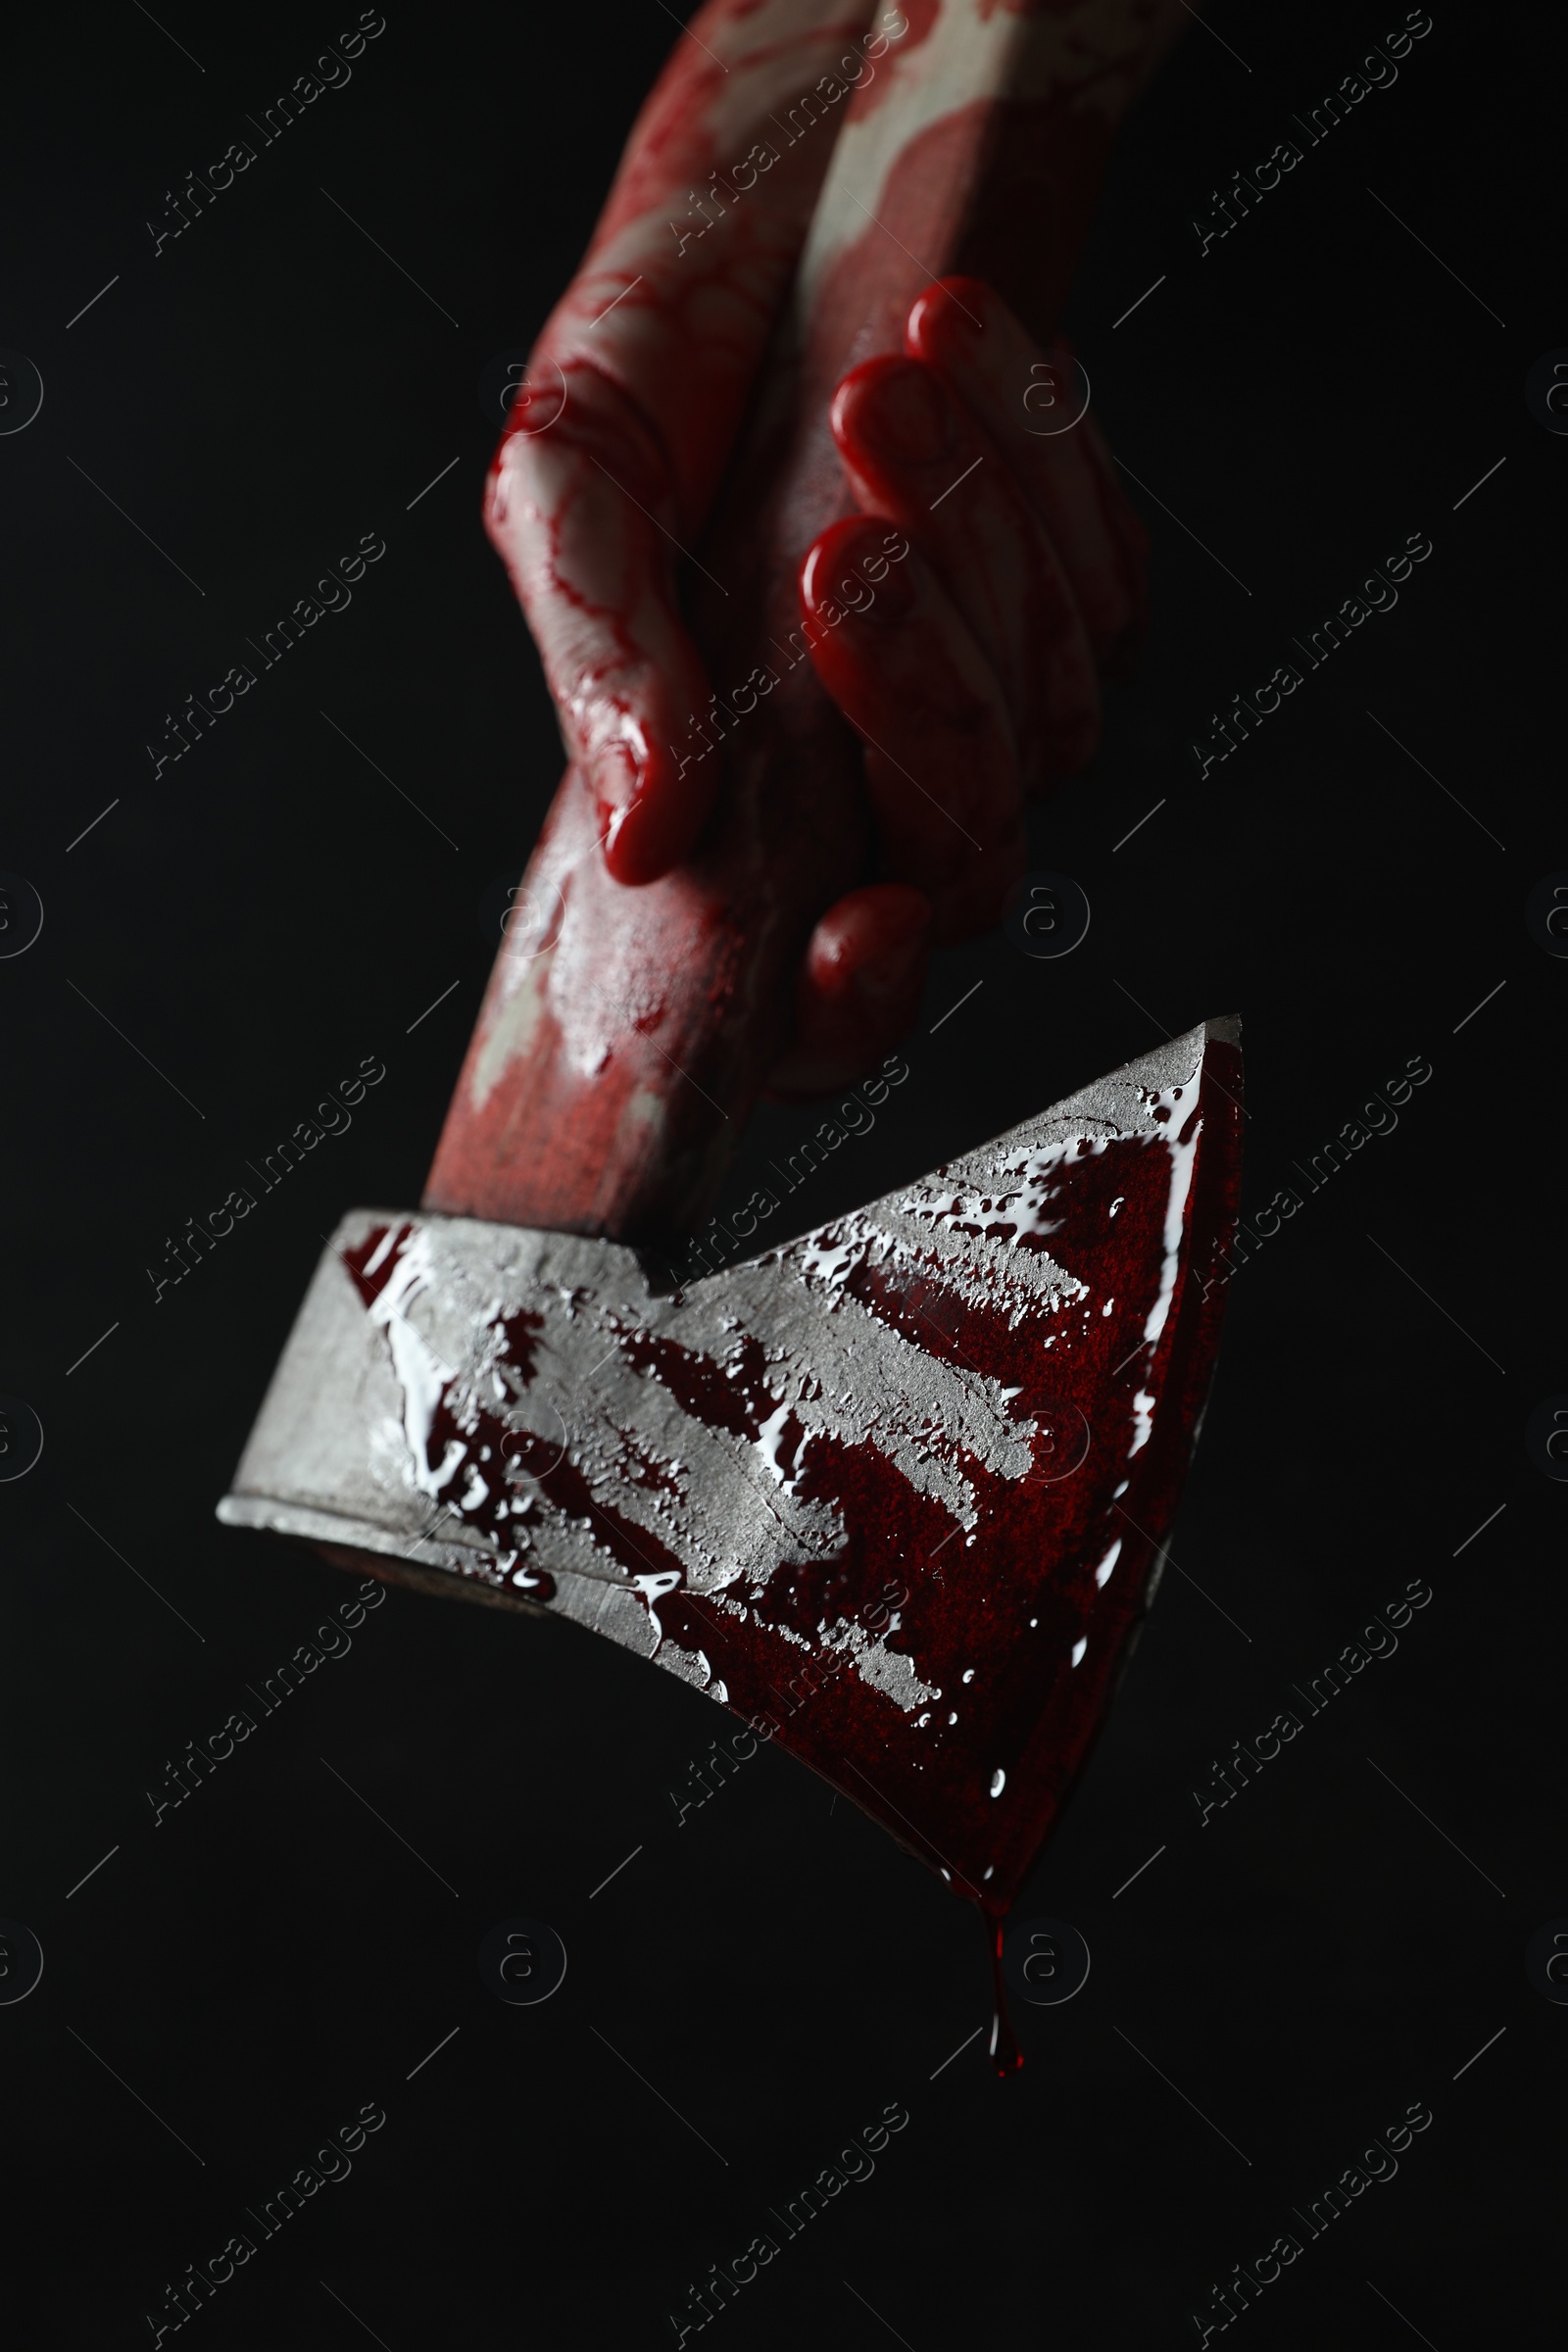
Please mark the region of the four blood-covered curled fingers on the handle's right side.
[[[945, 278], [903, 355], [837, 390], [860, 515], [813, 541], [799, 593], [816, 673], [865, 746], [882, 880], [816, 927], [776, 1091], [837, 1084], [893, 1042], [926, 946], [1001, 917], [1025, 797], [1095, 748], [1147, 541], [1074, 379], [1065, 343], [1039, 350], [992, 287]], [[910, 548], [896, 562], [889, 524]]]

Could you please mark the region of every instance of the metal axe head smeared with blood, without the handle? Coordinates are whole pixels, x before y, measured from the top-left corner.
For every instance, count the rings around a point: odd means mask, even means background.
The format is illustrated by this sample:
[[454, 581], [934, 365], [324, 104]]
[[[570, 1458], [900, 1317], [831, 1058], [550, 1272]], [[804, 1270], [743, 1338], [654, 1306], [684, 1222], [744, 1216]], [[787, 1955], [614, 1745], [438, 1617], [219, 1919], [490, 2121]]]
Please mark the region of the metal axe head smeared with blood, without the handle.
[[609, 1635], [1001, 1915], [1159, 1581], [1239, 1096], [1208, 1021], [668, 1294], [614, 1242], [357, 1209], [219, 1517]]

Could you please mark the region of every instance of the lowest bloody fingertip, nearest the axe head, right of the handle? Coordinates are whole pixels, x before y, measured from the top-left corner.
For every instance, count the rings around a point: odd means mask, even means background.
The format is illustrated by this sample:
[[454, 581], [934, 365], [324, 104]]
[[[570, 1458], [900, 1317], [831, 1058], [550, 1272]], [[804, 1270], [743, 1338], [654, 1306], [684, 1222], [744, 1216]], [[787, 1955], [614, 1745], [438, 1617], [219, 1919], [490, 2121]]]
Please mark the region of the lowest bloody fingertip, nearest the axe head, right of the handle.
[[830, 906], [795, 993], [795, 1042], [769, 1080], [776, 1101], [844, 1087], [912, 1028], [931, 950], [931, 903], [872, 882]]

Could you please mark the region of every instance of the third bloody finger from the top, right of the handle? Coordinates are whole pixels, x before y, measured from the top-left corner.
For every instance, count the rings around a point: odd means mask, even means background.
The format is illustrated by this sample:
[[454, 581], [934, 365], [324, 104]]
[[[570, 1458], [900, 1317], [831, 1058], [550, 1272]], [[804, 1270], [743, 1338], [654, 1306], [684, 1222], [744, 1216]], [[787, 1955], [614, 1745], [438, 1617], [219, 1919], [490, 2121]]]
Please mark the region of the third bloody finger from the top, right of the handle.
[[[865, 743], [882, 873], [931, 898], [936, 938], [987, 931], [1023, 870], [1023, 786], [997, 673], [907, 539], [853, 515], [806, 553], [823, 687]], [[898, 543], [898, 541], [893, 541]]]

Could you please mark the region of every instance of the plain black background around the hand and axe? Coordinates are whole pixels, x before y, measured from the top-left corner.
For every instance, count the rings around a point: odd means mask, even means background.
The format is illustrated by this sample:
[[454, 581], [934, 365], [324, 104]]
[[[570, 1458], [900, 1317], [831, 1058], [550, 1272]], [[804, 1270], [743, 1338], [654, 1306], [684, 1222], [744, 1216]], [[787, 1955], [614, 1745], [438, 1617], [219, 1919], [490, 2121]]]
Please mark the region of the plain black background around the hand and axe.
[[[1556, 2340], [1568, 2013], [1521, 1955], [1568, 1912], [1563, 1494], [1523, 1423], [1568, 1388], [1542, 1138], [1566, 971], [1523, 898], [1568, 866], [1540, 529], [1568, 445], [1523, 376], [1568, 343], [1530, 261], [1563, 59], [1540, 16], [1436, 0], [1396, 87], [1237, 235], [1199, 259], [1187, 228], [1401, 14], [1215, 7], [1246, 66], [1192, 24], [1133, 118], [1067, 325], [1147, 485], [1154, 628], [1093, 774], [1034, 821], [1093, 924], [1060, 964], [1001, 936], [938, 957], [910, 1082], [802, 1200], [818, 1223], [1206, 1014], [1246, 1018], [1253, 1207], [1410, 1056], [1434, 1070], [1232, 1287], [1182, 1573], [1018, 1912], [1074, 1922], [1093, 1971], [1020, 2018], [1006, 2084], [983, 2037], [931, 2079], [990, 2018], [940, 1882], [771, 1752], [677, 1830], [712, 1710], [559, 1625], [390, 1592], [153, 1828], [165, 1759], [350, 1590], [214, 1503], [322, 1235], [418, 1197], [487, 974], [477, 903], [555, 788], [477, 522], [475, 383], [567, 282], [677, 35], [654, 0], [388, 9], [353, 82], [153, 259], [165, 188], [339, 21], [176, 9], [167, 38], [127, 5], [12, 33], [0, 343], [45, 379], [0, 437], [0, 866], [45, 901], [0, 964], [0, 1390], [45, 1423], [0, 1486], [0, 1912], [47, 1957], [0, 2009], [16, 2343], [148, 2343], [165, 2281], [364, 2100], [388, 2122], [353, 2176], [195, 2340], [668, 2345], [686, 2286], [889, 2100], [910, 2124], [877, 2176], [722, 2340], [1194, 2343], [1208, 2284], [1410, 2100], [1434, 2124], [1399, 2178], [1244, 2340]], [[165, 713], [362, 532], [388, 553], [353, 607], [153, 781]], [[1434, 553], [1399, 609], [1199, 783], [1208, 710], [1413, 532]], [[153, 1305], [165, 1237], [367, 1054], [388, 1075], [353, 1131]], [[729, 1197], [816, 1117], [762, 1112]], [[1410, 1578], [1434, 1599], [1399, 1653], [1199, 1830], [1211, 1757]], [[475, 1969], [515, 1915], [569, 1950], [541, 2009]]]

